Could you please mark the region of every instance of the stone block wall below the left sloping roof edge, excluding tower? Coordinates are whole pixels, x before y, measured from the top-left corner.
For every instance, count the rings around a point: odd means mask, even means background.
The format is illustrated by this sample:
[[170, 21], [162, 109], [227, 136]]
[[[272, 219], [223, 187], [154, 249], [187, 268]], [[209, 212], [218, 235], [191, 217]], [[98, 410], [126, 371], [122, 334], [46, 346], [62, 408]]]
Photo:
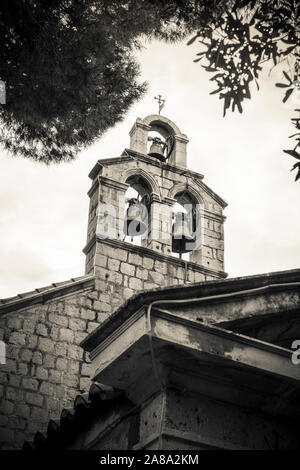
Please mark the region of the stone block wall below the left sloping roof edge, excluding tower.
[[88, 390], [80, 341], [107, 317], [97, 291], [73, 294], [0, 317], [0, 448], [20, 448]]

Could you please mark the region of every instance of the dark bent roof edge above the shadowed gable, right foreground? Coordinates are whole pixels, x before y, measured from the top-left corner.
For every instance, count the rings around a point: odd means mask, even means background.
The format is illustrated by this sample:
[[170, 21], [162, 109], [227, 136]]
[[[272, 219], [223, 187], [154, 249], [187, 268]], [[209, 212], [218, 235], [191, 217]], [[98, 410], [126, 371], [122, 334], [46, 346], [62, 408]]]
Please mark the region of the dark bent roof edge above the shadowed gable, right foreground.
[[[228, 298], [233, 296], [247, 295], [247, 290], [270, 289], [276, 290], [280, 286], [289, 288], [289, 284], [299, 283], [300, 287], [300, 269], [288, 271], [279, 271], [254, 276], [243, 276], [228, 279], [218, 279], [213, 281], [199, 282], [183, 286], [164, 287], [140, 292], [130, 297], [120, 308], [118, 308], [110, 317], [99, 325], [82, 342], [81, 346], [91, 352], [101, 341], [110, 333], [124, 323], [137, 310], [152, 302], [161, 301], [160, 307], [164, 306], [163, 301], [199, 299], [199, 303], [209, 296], [218, 296]], [[299, 307], [299, 306], [298, 306]]]

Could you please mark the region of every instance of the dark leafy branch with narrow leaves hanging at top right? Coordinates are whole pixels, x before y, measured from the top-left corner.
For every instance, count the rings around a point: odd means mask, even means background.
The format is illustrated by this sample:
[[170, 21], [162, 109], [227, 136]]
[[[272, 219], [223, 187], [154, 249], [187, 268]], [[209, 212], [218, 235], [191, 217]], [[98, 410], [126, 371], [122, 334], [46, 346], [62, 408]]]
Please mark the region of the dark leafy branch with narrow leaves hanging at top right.
[[[285, 89], [284, 103], [298, 91], [299, 32], [299, 2], [295, 0], [236, 1], [222, 16], [198, 29], [188, 45], [196, 40], [201, 44], [194, 62], [201, 62], [207, 72], [214, 73], [210, 80], [216, 89], [210, 94], [218, 94], [223, 100], [223, 116], [230, 108], [243, 112], [244, 101], [251, 98], [252, 82], [259, 89], [262, 64], [266, 62], [272, 63], [272, 69], [279, 64], [289, 68], [290, 75], [283, 71], [287, 83], [276, 84]], [[291, 121], [299, 129], [299, 118]], [[299, 133], [291, 137], [296, 139], [296, 146], [285, 152], [300, 159]], [[295, 168], [298, 180], [300, 163]]]

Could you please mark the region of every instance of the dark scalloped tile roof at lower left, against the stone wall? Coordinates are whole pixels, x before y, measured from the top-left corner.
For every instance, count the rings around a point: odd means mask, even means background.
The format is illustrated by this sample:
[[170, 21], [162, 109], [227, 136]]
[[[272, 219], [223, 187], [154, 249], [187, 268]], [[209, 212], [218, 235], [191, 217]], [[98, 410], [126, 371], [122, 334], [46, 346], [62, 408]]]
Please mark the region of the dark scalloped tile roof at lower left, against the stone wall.
[[[65, 448], [98, 412], [107, 411], [125, 398], [125, 394], [111, 387], [93, 383], [88, 393], [77, 395], [72, 409], [63, 409], [58, 420], [50, 420], [46, 435], [37, 432], [32, 442], [25, 441], [23, 450], [47, 450]], [[127, 400], [127, 399], [126, 399]]]

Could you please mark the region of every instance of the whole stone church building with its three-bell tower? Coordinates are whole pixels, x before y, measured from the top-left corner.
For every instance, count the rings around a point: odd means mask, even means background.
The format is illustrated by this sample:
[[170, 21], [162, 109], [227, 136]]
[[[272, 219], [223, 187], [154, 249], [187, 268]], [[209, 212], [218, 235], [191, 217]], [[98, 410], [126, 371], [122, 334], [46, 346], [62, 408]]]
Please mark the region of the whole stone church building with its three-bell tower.
[[300, 270], [227, 277], [187, 145], [138, 118], [89, 174], [85, 275], [0, 300], [0, 448], [299, 448]]

